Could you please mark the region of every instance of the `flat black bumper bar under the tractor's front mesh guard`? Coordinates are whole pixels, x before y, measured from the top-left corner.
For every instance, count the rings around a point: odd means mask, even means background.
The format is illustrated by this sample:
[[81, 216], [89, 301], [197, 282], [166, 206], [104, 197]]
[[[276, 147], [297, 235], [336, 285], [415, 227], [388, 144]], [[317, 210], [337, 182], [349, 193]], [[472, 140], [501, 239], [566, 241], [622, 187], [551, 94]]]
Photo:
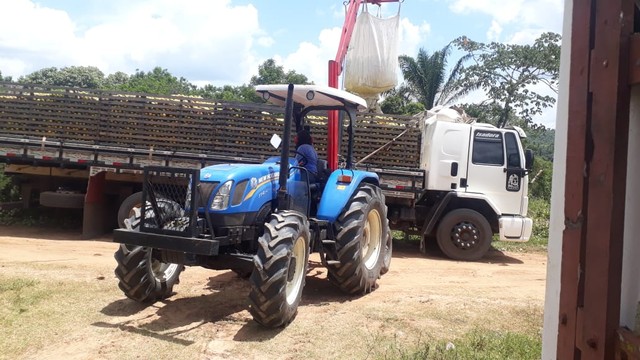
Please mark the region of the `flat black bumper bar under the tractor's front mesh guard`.
[[220, 248], [220, 241], [216, 239], [143, 233], [127, 229], [114, 230], [113, 242], [198, 255], [218, 255]]

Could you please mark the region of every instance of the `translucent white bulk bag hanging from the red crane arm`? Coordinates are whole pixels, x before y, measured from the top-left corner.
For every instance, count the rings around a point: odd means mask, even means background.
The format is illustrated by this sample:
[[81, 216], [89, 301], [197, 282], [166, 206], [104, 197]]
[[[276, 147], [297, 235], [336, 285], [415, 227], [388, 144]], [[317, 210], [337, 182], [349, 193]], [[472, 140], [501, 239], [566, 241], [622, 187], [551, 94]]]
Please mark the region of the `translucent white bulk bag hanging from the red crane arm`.
[[398, 28], [400, 15], [381, 19], [366, 8], [356, 19], [347, 50], [344, 87], [373, 97], [398, 84]]

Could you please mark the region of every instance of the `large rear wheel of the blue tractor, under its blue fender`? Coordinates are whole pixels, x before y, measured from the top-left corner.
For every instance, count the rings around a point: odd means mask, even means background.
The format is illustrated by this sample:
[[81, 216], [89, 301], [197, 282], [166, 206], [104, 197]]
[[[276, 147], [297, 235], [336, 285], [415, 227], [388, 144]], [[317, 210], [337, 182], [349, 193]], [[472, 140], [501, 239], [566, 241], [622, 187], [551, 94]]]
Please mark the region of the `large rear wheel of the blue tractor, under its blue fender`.
[[327, 253], [328, 278], [347, 294], [376, 289], [384, 265], [389, 222], [380, 188], [362, 184], [336, 221], [336, 253]]

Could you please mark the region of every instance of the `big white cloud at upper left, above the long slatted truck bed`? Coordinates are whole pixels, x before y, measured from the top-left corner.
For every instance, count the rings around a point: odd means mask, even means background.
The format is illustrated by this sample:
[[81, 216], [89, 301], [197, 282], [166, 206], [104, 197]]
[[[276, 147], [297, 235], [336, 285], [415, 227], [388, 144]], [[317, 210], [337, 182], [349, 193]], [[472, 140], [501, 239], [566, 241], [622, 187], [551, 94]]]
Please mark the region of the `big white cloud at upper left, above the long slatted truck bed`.
[[82, 30], [66, 12], [32, 0], [0, 2], [0, 70], [17, 77], [48, 66], [97, 66], [105, 73], [161, 66], [192, 81], [243, 83], [256, 68], [253, 47], [273, 44], [253, 5], [115, 1], [113, 13]]

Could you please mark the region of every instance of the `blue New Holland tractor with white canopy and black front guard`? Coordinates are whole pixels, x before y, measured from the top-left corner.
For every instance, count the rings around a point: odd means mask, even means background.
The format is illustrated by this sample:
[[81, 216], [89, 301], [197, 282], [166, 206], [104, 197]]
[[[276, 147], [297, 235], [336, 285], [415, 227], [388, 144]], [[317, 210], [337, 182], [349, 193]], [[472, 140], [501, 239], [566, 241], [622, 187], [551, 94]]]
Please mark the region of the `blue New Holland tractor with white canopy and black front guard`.
[[[388, 271], [391, 233], [378, 176], [353, 169], [355, 116], [365, 101], [314, 85], [256, 91], [284, 106], [281, 144], [274, 135], [280, 156], [202, 169], [146, 167], [141, 199], [114, 231], [121, 244], [115, 273], [127, 297], [169, 297], [185, 266], [231, 269], [249, 277], [254, 320], [280, 327], [297, 314], [310, 252], [319, 252], [329, 281], [348, 294], [374, 290]], [[293, 129], [305, 128], [314, 110], [346, 114], [347, 154], [334, 171], [319, 160], [309, 174], [291, 146]]]

